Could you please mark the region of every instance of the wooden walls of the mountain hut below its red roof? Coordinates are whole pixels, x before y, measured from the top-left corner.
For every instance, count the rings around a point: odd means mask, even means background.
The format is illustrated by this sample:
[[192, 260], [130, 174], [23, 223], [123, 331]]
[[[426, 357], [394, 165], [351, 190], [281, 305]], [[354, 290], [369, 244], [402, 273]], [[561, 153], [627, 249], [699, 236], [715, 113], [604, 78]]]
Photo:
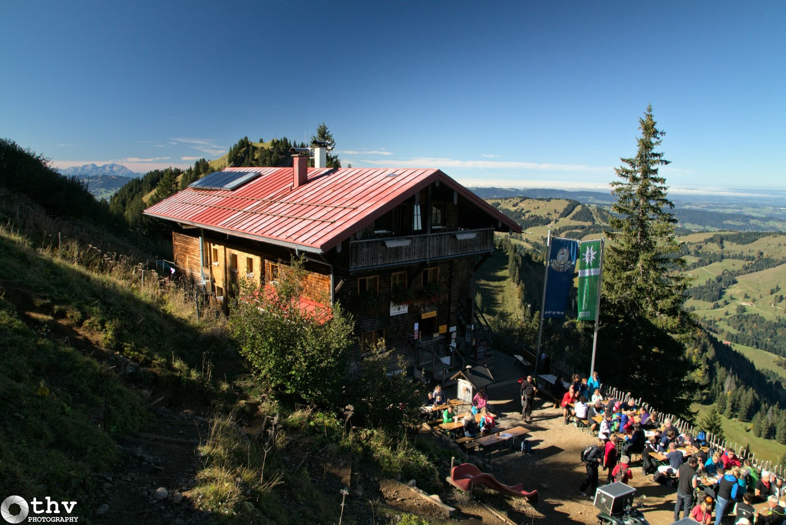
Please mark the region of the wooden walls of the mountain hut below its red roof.
[[[327, 253], [307, 253], [303, 294], [322, 304], [340, 301], [353, 315], [358, 355], [383, 337], [410, 363], [423, 348], [444, 354], [471, 323], [465, 316], [473, 308], [476, 268], [494, 250], [499, 225], [456, 191], [432, 183], [358, 224]], [[303, 255], [202, 228], [180, 229], [172, 239], [178, 270], [207, 284], [225, 305], [238, 279], [275, 283], [281, 264]]]

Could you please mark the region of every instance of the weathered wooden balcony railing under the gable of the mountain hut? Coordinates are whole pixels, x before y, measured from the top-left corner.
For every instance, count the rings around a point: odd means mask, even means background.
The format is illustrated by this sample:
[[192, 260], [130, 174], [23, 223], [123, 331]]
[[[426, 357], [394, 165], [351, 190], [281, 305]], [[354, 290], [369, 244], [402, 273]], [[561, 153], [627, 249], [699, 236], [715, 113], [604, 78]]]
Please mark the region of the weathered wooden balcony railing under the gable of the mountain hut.
[[464, 257], [494, 250], [494, 228], [374, 237], [350, 242], [350, 269]]

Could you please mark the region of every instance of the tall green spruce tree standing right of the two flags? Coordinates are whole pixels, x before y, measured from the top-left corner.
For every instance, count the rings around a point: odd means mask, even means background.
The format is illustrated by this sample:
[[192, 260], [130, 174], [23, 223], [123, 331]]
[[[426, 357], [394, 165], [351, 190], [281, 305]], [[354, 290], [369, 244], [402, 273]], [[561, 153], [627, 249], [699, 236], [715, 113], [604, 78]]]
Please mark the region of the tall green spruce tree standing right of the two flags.
[[598, 336], [610, 350], [599, 356], [598, 368], [634, 397], [658, 392], [664, 410], [689, 417], [696, 385], [680, 340], [692, 327], [682, 311], [689, 282], [678, 273], [685, 261], [678, 257], [677, 219], [669, 211], [674, 205], [666, 180], [658, 173], [669, 161], [656, 151], [663, 132], [656, 128], [652, 107], [639, 123], [637, 154], [620, 159], [619, 180], [611, 184], [615, 215], [606, 232], [611, 242], [604, 255]]

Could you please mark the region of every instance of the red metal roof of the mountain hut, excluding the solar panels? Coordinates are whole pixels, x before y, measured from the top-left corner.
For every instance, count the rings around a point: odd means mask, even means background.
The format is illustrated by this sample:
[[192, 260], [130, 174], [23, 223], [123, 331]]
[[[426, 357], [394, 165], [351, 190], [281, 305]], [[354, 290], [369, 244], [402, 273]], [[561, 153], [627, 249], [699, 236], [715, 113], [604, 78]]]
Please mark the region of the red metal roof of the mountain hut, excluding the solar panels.
[[521, 232], [516, 222], [440, 170], [309, 168], [307, 184], [295, 189], [292, 168], [226, 170], [261, 175], [234, 191], [185, 188], [150, 206], [145, 214], [325, 253], [439, 180], [512, 231]]

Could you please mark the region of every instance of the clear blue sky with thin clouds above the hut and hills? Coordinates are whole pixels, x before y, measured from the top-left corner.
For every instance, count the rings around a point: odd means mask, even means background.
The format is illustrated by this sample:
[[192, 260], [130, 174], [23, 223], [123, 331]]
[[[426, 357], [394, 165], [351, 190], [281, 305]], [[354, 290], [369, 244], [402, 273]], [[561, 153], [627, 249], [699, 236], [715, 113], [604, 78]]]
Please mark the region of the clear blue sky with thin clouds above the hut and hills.
[[0, 137], [56, 166], [185, 167], [244, 136], [303, 140], [324, 121], [344, 166], [607, 188], [652, 104], [675, 191], [786, 188], [784, 2], [2, 10]]

